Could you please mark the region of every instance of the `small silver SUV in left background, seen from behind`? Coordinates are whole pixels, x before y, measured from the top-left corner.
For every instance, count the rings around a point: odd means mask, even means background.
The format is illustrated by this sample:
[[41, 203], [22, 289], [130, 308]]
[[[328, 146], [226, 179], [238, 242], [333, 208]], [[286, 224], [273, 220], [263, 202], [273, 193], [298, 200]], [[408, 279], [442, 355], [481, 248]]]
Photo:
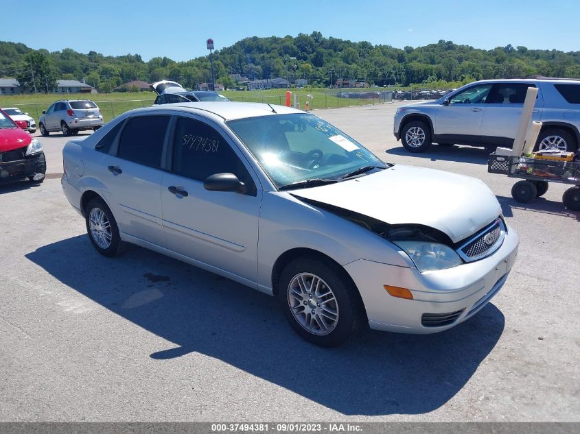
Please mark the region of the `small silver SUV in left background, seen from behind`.
[[73, 136], [82, 130], [98, 130], [104, 125], [103, 114], [97, 104], [89, 99], [61, 99], [55, 101], [38, 121], [40, 134], [60, 131]]

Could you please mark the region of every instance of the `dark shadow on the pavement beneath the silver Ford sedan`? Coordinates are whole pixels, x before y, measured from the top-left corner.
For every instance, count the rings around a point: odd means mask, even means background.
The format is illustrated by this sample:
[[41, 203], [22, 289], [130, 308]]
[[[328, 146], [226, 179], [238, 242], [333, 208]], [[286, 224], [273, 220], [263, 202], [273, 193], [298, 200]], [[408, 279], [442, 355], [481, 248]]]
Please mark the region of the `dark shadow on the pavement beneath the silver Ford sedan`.
[[71, 290], [175, 343], [150, 354], [159, 363], [207, 354], [347, 415], [441, 407], [504, 329], [502, 313], [488, 304], [436, 335], [368, 330], [338, 348], [318, 348], [294, 333], [275, 298], [146, 249], [104, 258], [84, 235], [26, 257]]

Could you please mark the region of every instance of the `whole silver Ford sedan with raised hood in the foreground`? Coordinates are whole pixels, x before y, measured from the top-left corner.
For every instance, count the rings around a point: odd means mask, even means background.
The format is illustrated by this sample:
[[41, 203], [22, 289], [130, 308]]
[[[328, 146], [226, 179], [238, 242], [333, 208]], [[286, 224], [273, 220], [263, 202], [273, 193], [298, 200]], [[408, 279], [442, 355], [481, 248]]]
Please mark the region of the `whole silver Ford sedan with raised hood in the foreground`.
[[97, 252], [135, 243], [277, 296], [321, 346], [364, 324], [455, 326], [500, 290], [518, 248], [480, 180], [385, 164], [294, 108], [140, 108], [62, 155]]

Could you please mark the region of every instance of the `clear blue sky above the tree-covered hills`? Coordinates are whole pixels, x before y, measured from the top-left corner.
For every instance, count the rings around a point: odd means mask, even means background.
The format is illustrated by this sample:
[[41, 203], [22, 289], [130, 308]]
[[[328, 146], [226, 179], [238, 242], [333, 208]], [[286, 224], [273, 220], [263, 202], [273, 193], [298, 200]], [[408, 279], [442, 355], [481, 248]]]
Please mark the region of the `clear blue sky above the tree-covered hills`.
[[[0, 11], [5, 11], [2, 3], [7, 7], [10, 1], [0, 0]], [[398, 48], [444, 39], [481, 49], [511, 44], [580, 50], [576, 0], [29, 0], [25, 10], [18, 19], [0, 12], [0, 40], [49, 51], [140, 54], [145, 61], [205, 56], [207, 38], [221, 49], [250, 36], [314, 30], [325, 37]]]

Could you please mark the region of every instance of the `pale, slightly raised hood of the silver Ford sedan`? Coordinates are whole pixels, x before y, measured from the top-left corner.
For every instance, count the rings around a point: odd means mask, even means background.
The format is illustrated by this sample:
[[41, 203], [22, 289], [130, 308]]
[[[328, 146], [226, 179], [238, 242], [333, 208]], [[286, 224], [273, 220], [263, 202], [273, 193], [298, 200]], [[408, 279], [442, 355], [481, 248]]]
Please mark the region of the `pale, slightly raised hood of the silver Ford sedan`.
[[494, 193], [469, 176], [395, 165], [351, 180], [292, 191], [292, 195], [367, 215], [387, 224], [420, 224], [456, 243], [501, 214]]

